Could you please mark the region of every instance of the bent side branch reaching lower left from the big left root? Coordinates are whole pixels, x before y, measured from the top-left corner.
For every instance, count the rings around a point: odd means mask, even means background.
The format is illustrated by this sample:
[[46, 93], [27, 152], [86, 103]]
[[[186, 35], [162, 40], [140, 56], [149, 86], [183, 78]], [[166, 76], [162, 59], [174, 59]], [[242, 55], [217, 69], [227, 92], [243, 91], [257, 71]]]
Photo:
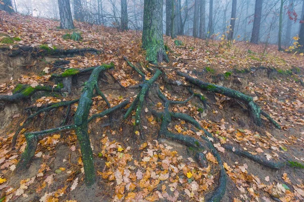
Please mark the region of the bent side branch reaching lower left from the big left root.
[[44, 138], [48, 134], [52, 134], [61, 130], [70, 130], [73, 128], [74, 128], [73, 125], [68, 125], [59, 128], [52, 128], [48, 130], [38, 131], [38, 132], [25, 133], [24, 136], [27, 145], [21, 156], [20, 161], [18, 162], [16, 171], [17, 172], [23, 171], [29, 167], [31, 160], [34, 158], [37, 144], [40, 139]]

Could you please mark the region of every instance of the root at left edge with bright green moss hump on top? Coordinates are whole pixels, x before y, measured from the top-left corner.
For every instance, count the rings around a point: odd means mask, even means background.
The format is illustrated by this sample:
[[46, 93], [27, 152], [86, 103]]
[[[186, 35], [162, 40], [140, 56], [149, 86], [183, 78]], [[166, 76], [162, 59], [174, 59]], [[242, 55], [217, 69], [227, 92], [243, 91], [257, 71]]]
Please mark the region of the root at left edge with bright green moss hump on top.
[[[21, 87], [22, 86], [22, 87]], [[58, 92], [60, 88], [53, 88], [51, 86], [42, 86], [37, 85], [36, 87], [31, 87], [29, 85], [19, 85], [18, 89], [15, 90], [15, 94], [12, 95], [0, 95], [0, 101], [4, 101], [7, 103], [15, 103], [20, 102], [22, 99], [29, 98], [32, 94], [37, 91], [49, 91], [49, 92]], [[20, 88], [20, 89], [19, 89]]]

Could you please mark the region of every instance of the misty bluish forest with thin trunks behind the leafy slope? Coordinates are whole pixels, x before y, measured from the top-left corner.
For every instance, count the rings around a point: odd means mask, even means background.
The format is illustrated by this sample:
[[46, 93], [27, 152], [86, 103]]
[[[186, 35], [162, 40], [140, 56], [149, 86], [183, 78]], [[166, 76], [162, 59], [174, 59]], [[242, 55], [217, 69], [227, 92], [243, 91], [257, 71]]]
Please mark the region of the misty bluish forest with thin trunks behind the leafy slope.
[[[143, 0], [70, 1], [74, 19], [119, 31], [142, 30], [143, 5]], [[59, 20], [58, 1], [12, 0], [12, 7], [24, 15]], [[227, 38], [279, 44], [279, 49], [286, 49], [294, 45], [293, 37], [299, 36], [304, 1], [166, 0], [163, 12], [163, 33], [168, 36]]]

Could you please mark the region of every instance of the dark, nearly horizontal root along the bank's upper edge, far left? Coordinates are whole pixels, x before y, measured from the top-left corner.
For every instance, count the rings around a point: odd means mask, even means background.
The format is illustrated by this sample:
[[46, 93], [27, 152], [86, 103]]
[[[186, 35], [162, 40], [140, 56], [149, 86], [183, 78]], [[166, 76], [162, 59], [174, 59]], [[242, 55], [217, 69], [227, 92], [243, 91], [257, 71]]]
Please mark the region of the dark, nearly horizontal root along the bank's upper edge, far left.
[[9, 57], [22, 56], [25, 54], [31, 54], [33, 57], [39, 56], [73, 56], [73, 55], [84, 55], [86, 53], [100, 53], [102, 50], [97, 50], [95, 48], [75, 48], [75, 49], [60, 49], [60, 48], [50, 48], [45, 47], [32, 47], [32, 46], [20, 46], [18, 49], [2, 48], [2, 51], [10, 51]]

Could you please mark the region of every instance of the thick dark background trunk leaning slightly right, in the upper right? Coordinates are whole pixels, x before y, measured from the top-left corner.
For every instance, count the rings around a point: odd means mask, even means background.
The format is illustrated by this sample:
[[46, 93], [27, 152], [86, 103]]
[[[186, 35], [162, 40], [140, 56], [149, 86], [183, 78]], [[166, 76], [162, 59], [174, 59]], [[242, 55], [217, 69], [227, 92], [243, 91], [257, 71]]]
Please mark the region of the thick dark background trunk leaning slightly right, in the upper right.
[[253, 21], [253, 28], [251, 33], [251, 43], [258, 43], [259, 39], [259, 29], [261, 24], [261, 15], [262, 15], [262, 3], [263, 0], [256, 0], [255, 1], [255, 9], [254, 9], [254, 21]]

